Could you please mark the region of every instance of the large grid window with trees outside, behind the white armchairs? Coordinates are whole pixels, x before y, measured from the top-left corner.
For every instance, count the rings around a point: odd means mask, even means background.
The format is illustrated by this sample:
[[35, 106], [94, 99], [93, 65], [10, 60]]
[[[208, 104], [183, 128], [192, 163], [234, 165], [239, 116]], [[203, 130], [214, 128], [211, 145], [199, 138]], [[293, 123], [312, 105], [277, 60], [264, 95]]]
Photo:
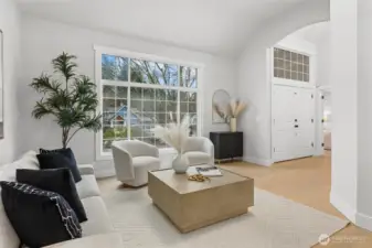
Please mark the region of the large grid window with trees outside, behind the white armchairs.
[[103, 152], [126, 139], [164, 148], [151, 129], [187, 114], [190, 134], [198, 134], [198, 68], [110, 54], [102, 54], [100, 62]]

